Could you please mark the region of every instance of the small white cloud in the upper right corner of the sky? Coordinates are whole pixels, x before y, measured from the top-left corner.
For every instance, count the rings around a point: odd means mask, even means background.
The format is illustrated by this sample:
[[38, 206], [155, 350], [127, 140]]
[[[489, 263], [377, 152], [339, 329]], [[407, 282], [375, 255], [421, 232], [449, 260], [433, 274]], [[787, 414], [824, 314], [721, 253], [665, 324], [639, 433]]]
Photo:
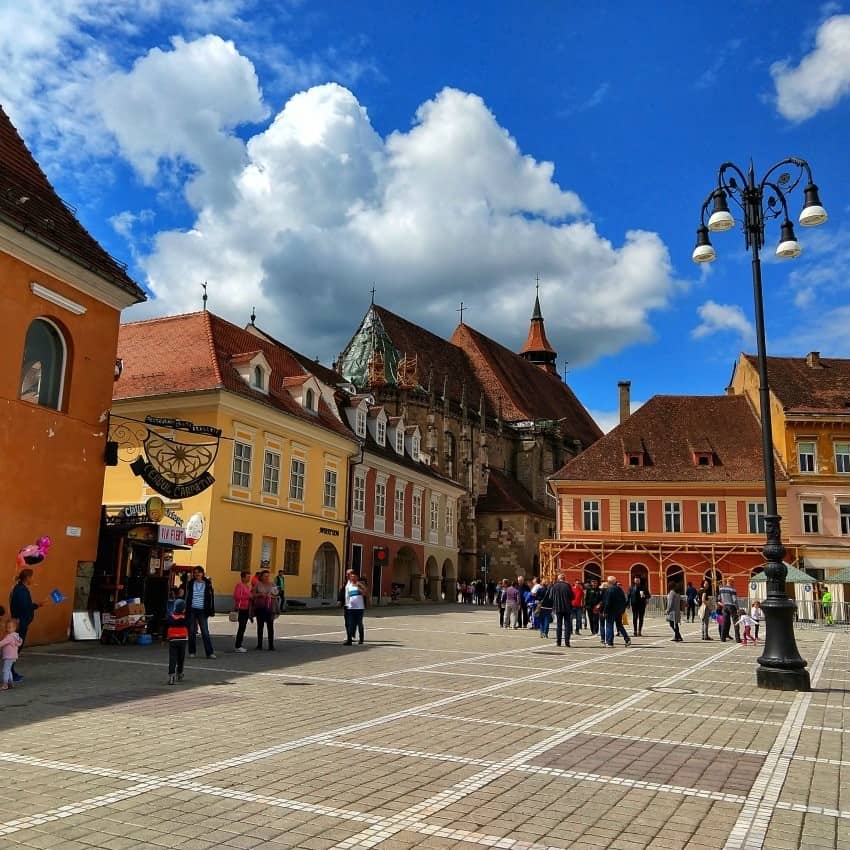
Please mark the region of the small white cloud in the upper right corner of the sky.
[[776, 107], [789, 121], [805, 121], [850, 93], [850, 15], [824, 21], [815, 47], [796, 68], [787, 61], [770, 69]]

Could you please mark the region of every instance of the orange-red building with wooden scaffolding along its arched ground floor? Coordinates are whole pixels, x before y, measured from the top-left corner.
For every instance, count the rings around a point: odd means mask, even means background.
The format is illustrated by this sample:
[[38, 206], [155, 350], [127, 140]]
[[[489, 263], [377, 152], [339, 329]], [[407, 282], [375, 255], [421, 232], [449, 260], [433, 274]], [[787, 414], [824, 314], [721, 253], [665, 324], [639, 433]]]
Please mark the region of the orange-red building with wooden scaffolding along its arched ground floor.
[[[641, 576], [653, 594], [735, 576], [764, 562], [759, 420], [743, 396], [654, 396], [550, 478], [558, 500], [544, 572]], [[780, 512], [788, 477], [774, 459]], [[797, 558], [789, 544], [788, 560]], [[715, 584], [716, 586], [716, 584]]]

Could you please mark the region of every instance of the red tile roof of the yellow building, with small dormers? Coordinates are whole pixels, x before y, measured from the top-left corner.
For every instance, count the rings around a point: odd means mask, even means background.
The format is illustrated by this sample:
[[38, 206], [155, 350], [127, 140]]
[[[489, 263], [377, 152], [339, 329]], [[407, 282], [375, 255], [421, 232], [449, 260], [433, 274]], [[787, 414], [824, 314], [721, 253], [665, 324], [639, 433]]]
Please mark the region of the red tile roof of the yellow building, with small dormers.
[[[253, 357], [258, 351], [272, 370], [268, 394], [249, 386], [234, 366], [234, 358], [241, 360], [241, 355], [249, 353]], [[213, 313], [123, 324], [118, 357], [124, 361], [124, 371], [115, 383], [115, 400], [229, 390], [353, 440], [351, 431], [323, 397], [318, 414], [305, 410], [292, 398], [285, 385], [303, 383], [308, 375], [290, 351]]]

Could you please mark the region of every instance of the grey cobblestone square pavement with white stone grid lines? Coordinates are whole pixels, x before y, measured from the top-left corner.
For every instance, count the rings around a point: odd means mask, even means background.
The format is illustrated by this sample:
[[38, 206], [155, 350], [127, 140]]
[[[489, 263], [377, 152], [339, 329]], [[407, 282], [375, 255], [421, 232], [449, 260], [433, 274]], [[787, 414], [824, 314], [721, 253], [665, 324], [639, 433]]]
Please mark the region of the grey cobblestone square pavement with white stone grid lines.
[[[801, 632], [814, 690], [757, 650], [558, 649], [492, 609], [285, 615], [277, 652], [28, 650], [0, 694], [0, 848], [850, 848], [850, 637]], [[251, 643], [249, 642], [249, 645]]]

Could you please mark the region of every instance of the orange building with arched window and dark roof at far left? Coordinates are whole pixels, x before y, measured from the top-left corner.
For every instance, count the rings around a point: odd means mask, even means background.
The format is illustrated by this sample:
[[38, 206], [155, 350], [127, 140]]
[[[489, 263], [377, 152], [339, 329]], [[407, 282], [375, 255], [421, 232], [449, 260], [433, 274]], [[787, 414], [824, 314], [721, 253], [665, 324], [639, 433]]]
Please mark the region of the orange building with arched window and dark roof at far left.
[[[28, 643], [63, 639], [78, 573], [97, 554], [106, 416], [118, 324], [143, 301], [125, 268], [86, 232], [0, 109], [0, 587], [17, 551], [43, 535]], [[6, 604], [6, 599], [0, 600]]]

